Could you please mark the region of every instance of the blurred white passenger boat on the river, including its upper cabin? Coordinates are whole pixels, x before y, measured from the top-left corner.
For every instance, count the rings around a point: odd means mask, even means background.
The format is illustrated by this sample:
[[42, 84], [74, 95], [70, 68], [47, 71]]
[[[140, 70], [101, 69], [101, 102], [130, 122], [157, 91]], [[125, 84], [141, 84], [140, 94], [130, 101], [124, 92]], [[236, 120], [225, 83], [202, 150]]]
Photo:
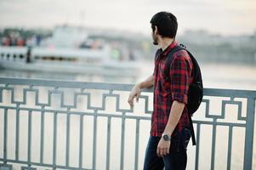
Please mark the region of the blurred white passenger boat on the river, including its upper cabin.
[[[83, 32], [83, 31], [82, 31]], [[77, 48], [87, 35], [69, 27], [58, 27], [43, 46], [0, 46], [0, 67], [20, 71], [50, 71], [95, 74], [103, 76], [136, 77], [139, 66], [135, 61], [111, 58], [111, 48]], [[79, 35], [79, 36], [77, 36]], [[81, 36], [82, 35], [82, 36]]]

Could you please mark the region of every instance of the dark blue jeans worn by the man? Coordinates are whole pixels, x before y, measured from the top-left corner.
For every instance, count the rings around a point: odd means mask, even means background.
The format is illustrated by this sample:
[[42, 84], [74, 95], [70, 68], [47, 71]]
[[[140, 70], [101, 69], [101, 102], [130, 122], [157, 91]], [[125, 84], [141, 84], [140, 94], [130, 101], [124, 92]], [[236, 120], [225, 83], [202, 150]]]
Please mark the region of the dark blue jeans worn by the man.
[[156, 149], [161, 137], [150, 136], [145, 151], [144, 170], [185, 170], [187, 163], [186, 147], [191, 138], [191, 131], [183, 130], [181, 136], [172, 137], [169, 154], [158, 157]]

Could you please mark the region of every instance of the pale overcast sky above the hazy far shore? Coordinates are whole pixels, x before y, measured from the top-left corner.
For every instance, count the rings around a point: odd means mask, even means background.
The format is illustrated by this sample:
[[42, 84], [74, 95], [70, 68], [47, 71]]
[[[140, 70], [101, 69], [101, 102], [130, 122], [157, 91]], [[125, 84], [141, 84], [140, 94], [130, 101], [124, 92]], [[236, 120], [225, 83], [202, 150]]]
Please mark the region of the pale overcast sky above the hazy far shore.
[[153, 14], [176, 15], [178, 33], [221, 35], [256, 31], [255, 0], [0, 0], [0, 27], [51, 28], [63, 24], [151, 32]]

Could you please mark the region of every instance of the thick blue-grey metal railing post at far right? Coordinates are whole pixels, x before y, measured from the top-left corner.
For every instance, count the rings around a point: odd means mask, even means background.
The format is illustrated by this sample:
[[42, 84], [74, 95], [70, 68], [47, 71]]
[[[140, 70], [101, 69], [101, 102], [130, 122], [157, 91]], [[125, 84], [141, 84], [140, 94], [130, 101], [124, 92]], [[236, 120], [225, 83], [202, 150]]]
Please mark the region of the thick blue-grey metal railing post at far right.
[[253, 161], [253, 129], [254, 129], [254, 114], [255, 114], [255, 97], [247, 98], [247, 125], [245, 133], [244, 145], [244, 161], [243, 169], [252, 169]]

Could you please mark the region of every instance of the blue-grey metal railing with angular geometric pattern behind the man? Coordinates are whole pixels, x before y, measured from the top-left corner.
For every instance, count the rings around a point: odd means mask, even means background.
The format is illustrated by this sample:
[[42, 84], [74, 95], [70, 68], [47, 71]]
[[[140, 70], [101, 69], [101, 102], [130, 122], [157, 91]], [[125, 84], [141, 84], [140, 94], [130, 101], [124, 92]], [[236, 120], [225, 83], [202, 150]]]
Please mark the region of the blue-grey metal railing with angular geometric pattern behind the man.
[[[134, 143], [134, 169], [139, 169], [142, 166], [143, 159], [139, 156], [141, 151], [141, 142], [145, 142], [145, 140], [141, 139], [141, 135], [144, 133], [149, 133], [148, 129], [141, 128], [142, 122], [150, 122], [151, 121], [151, 95], [152, 89], [144, 89], [142, 91], [141, 99], [145, 101], [143, 108], [143, 114], [133, 114], [134, 109], [128, 108], [128, 104], [123, 104], [121, 100], [125, 98], [127, 101], [127, 94], [130, 89], [133, 87], [131, 84], [111, 84], [111, 83], [95, 83], [95, 82], [71, 82], [71, 81], [53, 81], [53, 80], [41, 80], [41, 79], [29, 79], [29, 78], [6, 78], [0, 77], [0, 114], [3, 115], [3, 131], [0, 132], [0, 144], [3, 143], [3, 150], [0, 150], [0, 161], [3, 163], [0, 164], [0, 168], [10, 169], [12, 167], [11, 163], [20, 163], [23, 165], [22, 169], [33, 169], [36, 167], [50, 167], [52, 169], [60, 168], [60, 169], [96, 169], [99, 168], [97, 164], [97, 147], [99, 147], [99, 135], [98, 128], [101, 128], [101, 124], [99, 125], [100, 117], [105, 117], [106, 122], [106, 139], [105, 139], [105, 167], [101, 167], [104, 169], [113, 169], [111, 166], [111, 153], [113, 150], [111, 148], [111, 143], [115, 140], [112, 139], [111, 136], [114, 133], [117, 133], [117, 129], [112, 126], [115, 119], [121, 121], [121, 136], [120, 136], [120, 160], [116, 160], [119, 167], [117, 169], [125, 169], [124, 166], [125, 159], [125, 144], [126, 144], [126, 133], [128, 131], [128, 120], [134, 120], [135, 122], [135, 139]], [[42, 88], [44, 89], [44, 93], [42, 94]], [[67, 94], [68, 90], [72, 89], [72, 94]], [[92, 103], [92, 99], [94, 98], [94, 93], [90, 90], [94, 91], [103, 91], [100, 92], [101, 95], [98, 95], [99, 105], [94, 105]], [[33, 95], [31, 95], [32, 93]], [[60, 95], [58, 98], [54, 98], [54, 95]], [[16, 96], [20, 95], [20, 100], [16, 99]], [[72, 104], [66, 104], [65, 96], [70, 95], [72, 99]], [[45, 100], [47, 102], [43, 103], [40, 101], [42, 96], [45, 96]], [[83, 105], [87, 106], [87, 109], [82, 109], [77, 111], [77, 107], [81, 105], [81, 103], [77, 104], [77, 99], [79, 97], [86, 97], [87, 102], [83, 103]], [[100, 96], [100, 99], [99, 99]], [[114, 105], [112, 105], [112, 109], [114, 111], [107, 111], [109, 105], [107, 105], [108, 99], [113, 98], [116, 99]], [[220, 113], [213, 113], [214, 111], [210, 110], [210, 105], [213, 105], [213, 98], [218, 99], [221, 108], [219, 108]], [[32, 100], [31, 102], [31, 99]], [[218, 135], [219, 127], [227, 127], [228, 137], [227, 137], [227, 156], [226, 156], [226, 169], [231, 169], [232, 165], [232, 156], [234, 151], [233, 142], [234, 139], [234, 131], [236, 127], [241, 127], [245, 129], [245, 137], [242, 140], [244, 143], [244, 149], [242, 150], [242, 165], [239, 165], [243, 169], [252, 169], [253, 163], [253, 129], [254, 129], [254, 119], [255, 119], [255, 99], [256, 99], [256, 91], [249, 90], [233, 90], [233, 89], [215, 89], [215, 88], [205, 88], [204, 90], [204, 99], [202, 102], [202, 107], [200, 109], [200, 113], [204, 117], [196, 117], [194, 119], [194, 127], [196, 128], [196, 150], [195, 150], [195, 161], [192, 162], [194, 164], [192, 169], [199, 169], [200, 167], [200, 148], [201, 145], [205, 142], [206, 139], [202, 139], [202, 130], [205, 129], [205, 125], [209, 125], [212, 127], [212, 135], [211, 137], [211, 151], [210, 151], [210, 169], [215, 169], [216, 163], [216, 140]], [[59, 103], [59, 107], [55, 107], [53, 102]], [[28, 104], [30, 103], [30, 104]], [[126, 105], [126, 106], [123, 106]], [[227, 106], [233, 105], [237, 106], [237, 117], [236, 120], [226, 120], [227, 116]], [[214, 105], [215, 107], [216, 105]], [[211, 106], [212, 107], [212, 106]], [[246, 109], [246, 110], [245, 110]], [[9, 116], [9, 111], [15, 111], [14, 117]], [[20, 147], [24, 147], [20, 145], [20, 135], [22, 132], [20, 131], [20, 114], [22, 111], [27, 111], [27, 153], [26, 160], [20, 160]], [[45, 157], [45, 148], [44, 145], [48, 143], [47, 137], [45, 136], [45, 129], [48, 126], [46, 124], [46, 114], [52, 113], [53, 115], [53, 141], [52, 141], [52, 161], [47, 163], [44, 161]], [[32, 161], [33, 154], [31, 153], [31, 140], [32, 138], [32, 122], [34, 121], [34, 115], [40, 115], [40, 149], [39, 149], [39, 159], [37, 161]], [[232, 112], [232, 114], [234, 114]], [[60, 126], [60, 115], [66, 116], [65, 122], [65, 164], [60, 164], [57, 162], [58, 154], [60, 150], [57, 150], [58, 147], [58, 138], [59, 136], [59, 126]], [[199, 115], [199, 113], [198, 113]], [[77, 116], [78, 121], [78, 163], [77, 166], [70, 165], [70, 161], [72, 156], [71, 153], [71, 127], [75, 126], [71, 123], [71, 116]], [[93, 123], [93, 134], [92, 134], [92, 161], [91, 165], [84, 166], [85, 160], [90, 160], [91, 158], [84, 156], [84, 148], [87, 145], [84, 145], [86, 136], [84, 136], [84, 131], [87, 130], [85, 124], [85, 117], [92, 117]], [[234, 116], [232, 115], [234, 118]], [[14, 119], [15, 122], [11, 124], [10, 119]], [[1, 119], [0, 119], [1, 121]], [[76, 125], [76, 126], [77, 126]], [[10, 129], [9, 127], [14, 127], [15, 138], [14, 141], [9, 141]], [[142, 132], [143, 130], [143, 132]], [[1, 139], [1, 136], [3, 138]], [[14, 142], [14, 157], [10, 158], [9, 155], [9, 147], [8, 144], [10, 142]], [[145, 144], [142, 144], [145, 145]], [[1, 149], [1, 147], [0, 147]], [[190, 150], [189, 150], [190, 151]], [[9, 155], [8, 155], [9, 154]], [[141, 155], [141, 154], [140, 154]], [[143, 155], [143, 154], [142, 154]], [[236, 156], [234, 156], [236, 157]], [[114, 168], [115, 169], [115, 168]], [[2, 170], [2, 169], [1, 169]]]

